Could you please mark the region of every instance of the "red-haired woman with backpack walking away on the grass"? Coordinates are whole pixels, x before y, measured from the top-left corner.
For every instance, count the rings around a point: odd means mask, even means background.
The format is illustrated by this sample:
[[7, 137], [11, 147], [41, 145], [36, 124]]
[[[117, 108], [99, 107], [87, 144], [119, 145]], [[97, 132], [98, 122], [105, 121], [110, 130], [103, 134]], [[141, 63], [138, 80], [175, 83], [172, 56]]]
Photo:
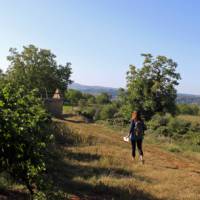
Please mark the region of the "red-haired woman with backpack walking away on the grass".
[[144, 122], [141, 119], [140, 113], [134, 111], [131, 117], [131, 127], [127, 137], [131, 139], [132, 159], [135, 160], [136, 145], [140, 155], [140, 161], [144, 164], [142, 141], [144, 136]]

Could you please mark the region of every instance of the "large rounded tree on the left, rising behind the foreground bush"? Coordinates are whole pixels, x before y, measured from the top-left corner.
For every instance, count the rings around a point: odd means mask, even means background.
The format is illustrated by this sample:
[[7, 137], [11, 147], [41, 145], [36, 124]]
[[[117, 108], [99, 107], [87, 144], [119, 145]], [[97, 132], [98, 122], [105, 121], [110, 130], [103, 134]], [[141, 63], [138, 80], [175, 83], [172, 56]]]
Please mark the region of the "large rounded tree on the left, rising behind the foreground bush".
[[13, 85], [23, 85], [28, 90], [37, 88], [43, 96], [52, 95], [56, 88], [64, 92], [71, 83], [71, 63], [58, 65], [55, 58], [50, 50], [34, 45], [24, 46], [21, 53], [11, 48], [7, 57], [10, 62], [7, 79]]

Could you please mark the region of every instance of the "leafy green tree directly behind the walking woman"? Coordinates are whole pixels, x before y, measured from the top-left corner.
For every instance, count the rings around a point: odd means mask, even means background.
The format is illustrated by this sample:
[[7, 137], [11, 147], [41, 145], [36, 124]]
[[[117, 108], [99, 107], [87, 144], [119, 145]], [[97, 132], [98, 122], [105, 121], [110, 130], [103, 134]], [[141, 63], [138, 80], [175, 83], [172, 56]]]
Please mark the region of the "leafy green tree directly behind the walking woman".
[[151, 54], [142, 54], [143, 66], [137, 69], [130, 65], [127, 72], [128, 100], [126, 106], [131, 110], [140, 110], [146, 118], [154, 113], [176, 111], [176, 89], [180, 74], [176, 72], [177, 63], [165, 56], [154, 58]]

